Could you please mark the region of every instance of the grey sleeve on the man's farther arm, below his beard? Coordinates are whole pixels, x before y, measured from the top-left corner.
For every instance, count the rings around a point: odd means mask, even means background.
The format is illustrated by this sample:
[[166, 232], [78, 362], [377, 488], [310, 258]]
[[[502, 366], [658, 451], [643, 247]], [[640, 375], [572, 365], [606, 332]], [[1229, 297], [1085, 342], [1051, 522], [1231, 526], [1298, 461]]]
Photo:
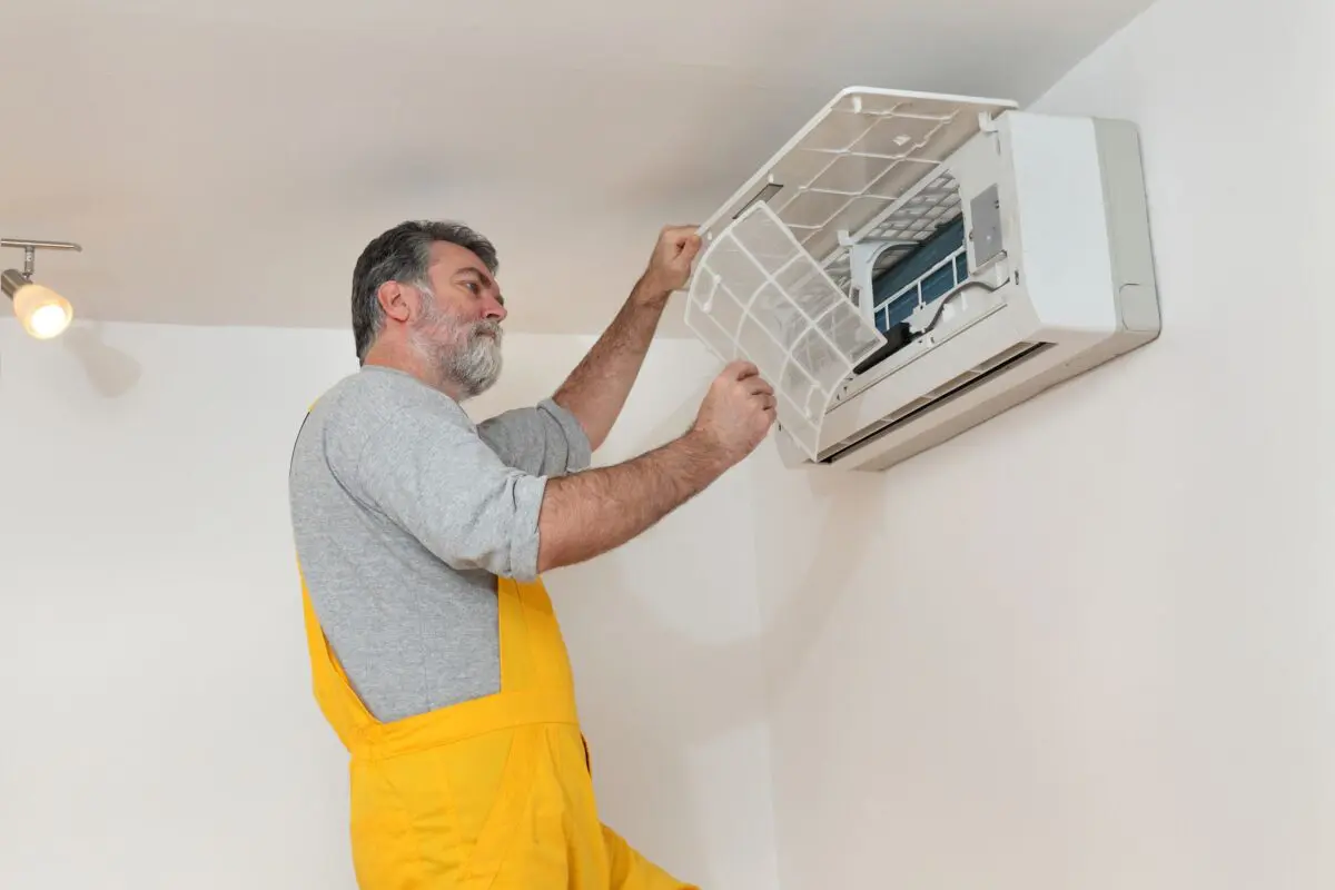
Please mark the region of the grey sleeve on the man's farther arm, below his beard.
[[533, 475], [562, 476], [587, 470], [593, 462], [579, 420], [553, 399], [483, 420], [478, 435], [506, 466]]

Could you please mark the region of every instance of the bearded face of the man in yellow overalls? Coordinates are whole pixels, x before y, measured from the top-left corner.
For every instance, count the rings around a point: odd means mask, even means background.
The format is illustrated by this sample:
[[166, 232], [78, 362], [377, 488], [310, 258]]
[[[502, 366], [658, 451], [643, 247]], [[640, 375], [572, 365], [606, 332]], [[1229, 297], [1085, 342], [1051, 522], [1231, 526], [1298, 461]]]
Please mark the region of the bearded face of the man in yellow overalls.
[[413, 343], [461, 398], [479, 395], [501, 375], [501, 288], [473, 251], [446, 242], [431, 247], [429, 279]]

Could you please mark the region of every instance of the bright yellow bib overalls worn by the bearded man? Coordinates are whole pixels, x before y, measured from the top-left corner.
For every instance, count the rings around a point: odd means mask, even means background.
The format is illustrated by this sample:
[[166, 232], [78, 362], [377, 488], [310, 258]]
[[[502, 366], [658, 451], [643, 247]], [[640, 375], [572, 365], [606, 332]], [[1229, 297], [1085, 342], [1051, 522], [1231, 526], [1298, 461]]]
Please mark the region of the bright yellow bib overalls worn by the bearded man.
[[697, 890], [598, 819], [565, 640], [542, 582], [497, 584], [501, 691], [376, 721], [302, 580], [315, 698], [351, 755], [362, 890]]

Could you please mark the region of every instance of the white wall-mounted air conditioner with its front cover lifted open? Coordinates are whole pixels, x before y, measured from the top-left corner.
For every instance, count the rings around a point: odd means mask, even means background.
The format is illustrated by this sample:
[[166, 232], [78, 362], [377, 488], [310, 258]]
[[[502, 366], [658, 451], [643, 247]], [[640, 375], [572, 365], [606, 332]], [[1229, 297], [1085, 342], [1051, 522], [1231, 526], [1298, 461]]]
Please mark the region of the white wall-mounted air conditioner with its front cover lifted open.
[[790, 466], [884, 470], [1159, 335], [1132, 124], [841, 91], [701, 227], [688, 327]]

